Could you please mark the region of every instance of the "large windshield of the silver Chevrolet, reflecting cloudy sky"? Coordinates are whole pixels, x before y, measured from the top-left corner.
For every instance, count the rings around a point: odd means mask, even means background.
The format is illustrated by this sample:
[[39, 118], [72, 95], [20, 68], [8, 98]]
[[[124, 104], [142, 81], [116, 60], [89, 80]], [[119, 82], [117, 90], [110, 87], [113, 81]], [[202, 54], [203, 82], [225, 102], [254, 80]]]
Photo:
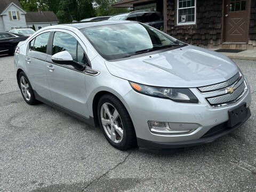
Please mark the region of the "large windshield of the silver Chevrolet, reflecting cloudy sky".
[[81, 31], [107, 60], [130, 57], [144, 50], [154, 51], [154, 47], [185, 45], [137, 22], [84, 28]]

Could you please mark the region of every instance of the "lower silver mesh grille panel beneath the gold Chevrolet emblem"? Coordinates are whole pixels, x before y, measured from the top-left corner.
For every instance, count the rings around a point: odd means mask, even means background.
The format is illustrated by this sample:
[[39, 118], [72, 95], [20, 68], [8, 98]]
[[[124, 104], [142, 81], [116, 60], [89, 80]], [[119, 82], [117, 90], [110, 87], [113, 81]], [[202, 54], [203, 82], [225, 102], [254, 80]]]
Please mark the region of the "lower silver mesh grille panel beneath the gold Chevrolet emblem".
[[237, 100], [240, 97], [240, 95], [244, 92], [245, 88], [246, 88], [245, 82], [243, 82], [241, 85], [237, 87], [234, 93], [231, 93], [231, 94], [228, 93], [225, 95], [220, 95], [217, 97], [206, 98], [206, 99], [212, 106], [219, 105], [222, 103], [229, 103]]

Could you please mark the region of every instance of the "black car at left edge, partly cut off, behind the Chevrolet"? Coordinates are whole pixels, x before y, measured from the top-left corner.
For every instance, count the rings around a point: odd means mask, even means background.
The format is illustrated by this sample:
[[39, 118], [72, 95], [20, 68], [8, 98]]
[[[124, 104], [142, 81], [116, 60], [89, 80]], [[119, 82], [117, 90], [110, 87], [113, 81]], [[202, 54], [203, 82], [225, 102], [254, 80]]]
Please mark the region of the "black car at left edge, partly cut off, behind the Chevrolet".
[[12, 55], [19, 42], [25, 41], [28, 36], [12, 34], [9, 32], [0, 32], [0, 54]]

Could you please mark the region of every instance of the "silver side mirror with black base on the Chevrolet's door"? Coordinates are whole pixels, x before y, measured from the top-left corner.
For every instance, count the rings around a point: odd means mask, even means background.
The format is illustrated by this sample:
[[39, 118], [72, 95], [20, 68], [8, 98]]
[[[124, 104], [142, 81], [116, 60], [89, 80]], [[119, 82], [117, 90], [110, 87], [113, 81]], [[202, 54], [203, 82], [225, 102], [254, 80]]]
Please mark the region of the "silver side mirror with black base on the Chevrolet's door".
[[85, 69], [85, 66], [82, 63], [76, 62], [73, 60], [71, 54], [68, 51], [61, 51], [55, 53], [51, 57], [54, 63], [59, 65], [69, 65], [73, 66], [76, 70], [82, 71]]

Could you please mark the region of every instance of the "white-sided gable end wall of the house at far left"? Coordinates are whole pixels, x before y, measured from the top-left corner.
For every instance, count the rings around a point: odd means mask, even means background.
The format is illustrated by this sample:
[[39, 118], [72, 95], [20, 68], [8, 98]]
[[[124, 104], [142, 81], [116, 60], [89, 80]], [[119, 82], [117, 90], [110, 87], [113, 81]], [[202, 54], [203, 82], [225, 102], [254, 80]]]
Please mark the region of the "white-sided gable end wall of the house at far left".
[[[9, 17], [9, 11], [19, 11], [20, 20], [10, 20]], [[6, 10], [4, 13], [2, 13], [3, 23], [5, 26], [5, 31], [9, 31], [12, 29], [12, 27], [19, 28], [19, 27], [26, 27], [26, 19], [25, 14], [22, 13], [20, 9], [18, 9], [16, 6], [11, 5], [8, 10]]]

